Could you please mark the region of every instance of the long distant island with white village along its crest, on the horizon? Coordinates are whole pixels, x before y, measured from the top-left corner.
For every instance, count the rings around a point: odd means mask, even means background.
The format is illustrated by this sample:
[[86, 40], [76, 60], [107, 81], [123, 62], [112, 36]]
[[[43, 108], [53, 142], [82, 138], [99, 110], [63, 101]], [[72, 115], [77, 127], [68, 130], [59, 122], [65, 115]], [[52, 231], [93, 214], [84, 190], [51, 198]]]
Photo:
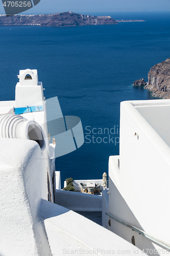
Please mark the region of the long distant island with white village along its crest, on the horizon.
[[60, 12], [41, 15], [0, 15], [2, 25], [37, 25], [42, 27], [68, 27], [85, 25], [109, 25], [118, 24], [110, 16], [91, 16], [74, 12]]

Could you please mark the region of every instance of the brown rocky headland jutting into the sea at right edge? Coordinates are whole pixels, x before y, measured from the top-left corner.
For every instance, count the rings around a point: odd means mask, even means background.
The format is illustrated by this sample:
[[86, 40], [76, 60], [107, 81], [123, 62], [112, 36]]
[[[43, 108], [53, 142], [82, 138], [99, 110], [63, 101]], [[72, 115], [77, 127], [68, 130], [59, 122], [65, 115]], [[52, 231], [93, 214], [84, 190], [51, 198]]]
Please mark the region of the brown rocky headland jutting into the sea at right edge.
[[155, 97], [170, 99], [170, 58], [156, 64], [148, 73], [148, 82], [136, 80], [133, 86], [144, 86]]

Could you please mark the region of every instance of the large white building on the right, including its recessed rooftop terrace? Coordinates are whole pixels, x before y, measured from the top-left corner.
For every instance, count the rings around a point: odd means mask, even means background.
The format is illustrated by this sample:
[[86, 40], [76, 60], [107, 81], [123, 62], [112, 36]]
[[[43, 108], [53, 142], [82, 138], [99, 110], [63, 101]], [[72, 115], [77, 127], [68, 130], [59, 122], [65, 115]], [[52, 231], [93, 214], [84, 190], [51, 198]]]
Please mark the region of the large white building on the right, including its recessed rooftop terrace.
[[120, 104], [119, 156], [103, 195], [103, 225], [149, 255], [170, 253], [169, 114], [170, 100]]

